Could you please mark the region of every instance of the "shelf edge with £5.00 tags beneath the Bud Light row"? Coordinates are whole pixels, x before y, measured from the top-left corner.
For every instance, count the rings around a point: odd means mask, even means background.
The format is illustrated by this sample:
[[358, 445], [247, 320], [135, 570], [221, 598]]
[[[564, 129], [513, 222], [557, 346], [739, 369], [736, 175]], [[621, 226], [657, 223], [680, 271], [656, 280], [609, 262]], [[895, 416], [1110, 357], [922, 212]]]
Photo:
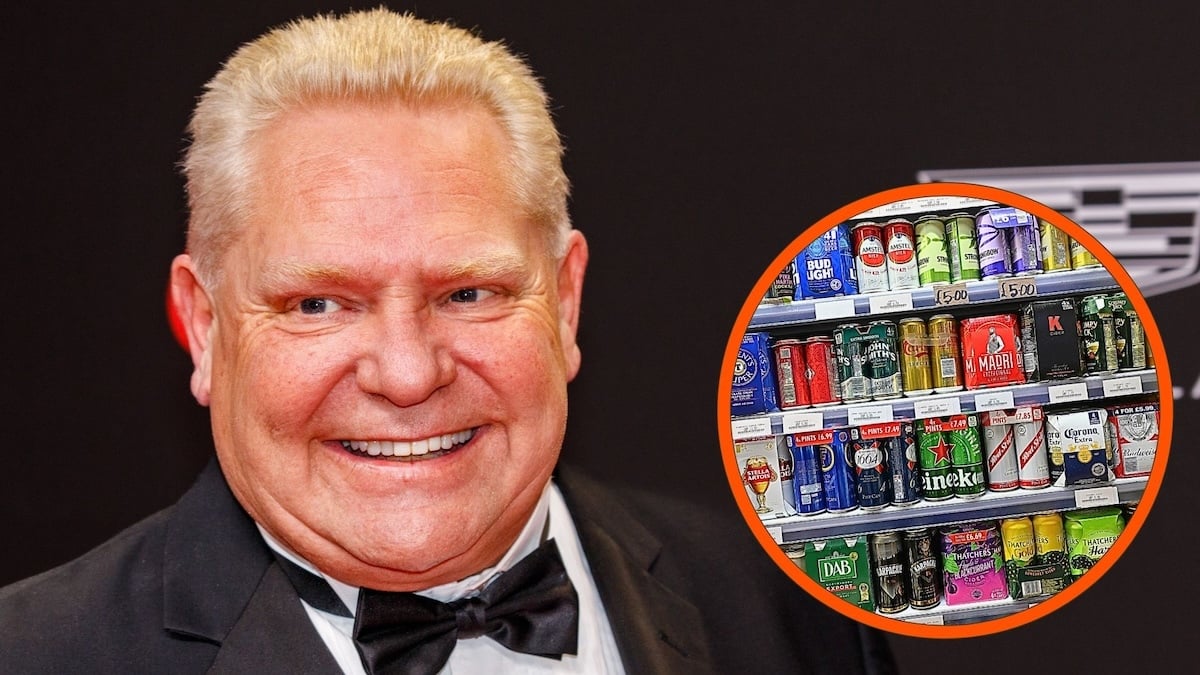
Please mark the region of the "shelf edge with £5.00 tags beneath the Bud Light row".
[[[1032, 280], [1037, 286], [1036, 295], [1021, 298], [1001, 297], [1001, 287], [1006, 281]], [[913, 288], [911, 291], [892, 291], [886, 293], [866, 293], [840, 298], [816, 298], [791, 300], [780, 304], [763, 304], [750, 318], [749, 330], [770, 330], [776, 328], [794, 328], [797, 323], [818, 321], [844, 321], [854, 318], [878, 318], [888, 315], [912, 313], [923, 310], [944, 310], [947, 312], [972, 307], [980, 304], [1019, 303], [1033, 299], [1045, 299], [1062, 295], [1086, 295], [1118, 291], [1120, 285], [1104, 268], [1075, 269], [1038, 274], [1033, 276], [1012, 277], [1009, 280], [985, 279], [964, 283], [970, 304], [937, 304], [937, 286]], [[946, 287], [943, 287], [946, 288]]]

